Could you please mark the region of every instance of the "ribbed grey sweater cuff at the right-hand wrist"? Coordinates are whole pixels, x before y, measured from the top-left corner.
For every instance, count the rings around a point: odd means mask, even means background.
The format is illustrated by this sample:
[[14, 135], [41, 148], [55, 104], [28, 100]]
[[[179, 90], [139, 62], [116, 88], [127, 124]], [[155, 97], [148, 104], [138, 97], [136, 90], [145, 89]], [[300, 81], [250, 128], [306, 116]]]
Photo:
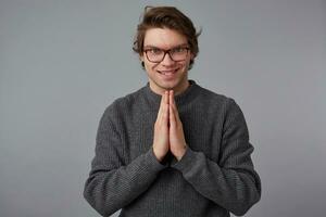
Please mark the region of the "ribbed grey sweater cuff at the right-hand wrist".
[[185, 174], [191, 169], [192, 165], [196, 162], [196, 158], [198, 158], [197, 155], [198, 155], [198, 153], [196, 153], [189, 146], [187, 146], [186, 153], [183, 156], [183, 158], [178, 162], [173, 162], [171, 164], [171, 167]]

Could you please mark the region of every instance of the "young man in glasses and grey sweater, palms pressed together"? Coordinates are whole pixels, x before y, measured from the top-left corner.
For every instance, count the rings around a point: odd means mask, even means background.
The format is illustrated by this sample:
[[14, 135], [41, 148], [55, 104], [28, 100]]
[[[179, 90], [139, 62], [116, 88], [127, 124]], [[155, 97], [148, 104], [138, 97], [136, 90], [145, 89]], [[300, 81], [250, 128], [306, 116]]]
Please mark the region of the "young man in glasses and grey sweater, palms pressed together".
[[105, 110], [85, 184], [101, 215], [226, 217], [260, 200], [241, 110], [188, 80], [197, 37], [177, 9], [146, 8], [134, 50], [149, 82]]

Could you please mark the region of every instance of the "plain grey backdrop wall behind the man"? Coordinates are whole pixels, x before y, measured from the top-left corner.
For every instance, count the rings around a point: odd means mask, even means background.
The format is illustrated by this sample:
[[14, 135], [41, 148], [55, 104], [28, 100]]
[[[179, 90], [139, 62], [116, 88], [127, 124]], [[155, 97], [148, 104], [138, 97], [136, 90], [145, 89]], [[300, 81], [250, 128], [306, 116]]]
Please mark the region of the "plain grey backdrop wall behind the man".
[[147, 82], [133, 37], [146, 4], [203, 31], [190, 78], [234, 98], [263, 183], [250, 217], [324, 216], [326, 2], [0, 1], [0, 216], [98, 216], [82, 192], [98, 122]]

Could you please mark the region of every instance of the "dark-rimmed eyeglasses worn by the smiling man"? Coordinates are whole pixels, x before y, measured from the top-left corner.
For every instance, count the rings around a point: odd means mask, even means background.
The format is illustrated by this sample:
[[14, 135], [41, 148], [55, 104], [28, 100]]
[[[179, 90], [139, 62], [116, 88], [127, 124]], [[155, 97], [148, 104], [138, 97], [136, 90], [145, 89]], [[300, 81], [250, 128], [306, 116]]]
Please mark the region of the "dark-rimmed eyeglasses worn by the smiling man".
[[151, 47], [145, 49], [143, 52], [150, 62], [160, 63], [164, 60], [166, 53], [168, 53], [173, 61], [184, 61], [186, 60], [189, 50], [190, 49], [188, 47], [176, 47], [168, 50]]

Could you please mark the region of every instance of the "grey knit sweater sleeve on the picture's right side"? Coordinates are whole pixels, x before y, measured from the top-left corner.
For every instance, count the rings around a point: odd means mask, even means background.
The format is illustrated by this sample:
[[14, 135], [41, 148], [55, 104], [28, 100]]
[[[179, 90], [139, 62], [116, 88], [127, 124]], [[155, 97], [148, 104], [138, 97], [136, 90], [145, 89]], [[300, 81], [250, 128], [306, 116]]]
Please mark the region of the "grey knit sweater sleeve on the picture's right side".
[[229, 99], [218, 162], [187, 148], [184, 157], [172, 166], [200, 194], [241, 216], [261, 197], [260, 177], [250, 157], [252, 152], [244, 116]]

